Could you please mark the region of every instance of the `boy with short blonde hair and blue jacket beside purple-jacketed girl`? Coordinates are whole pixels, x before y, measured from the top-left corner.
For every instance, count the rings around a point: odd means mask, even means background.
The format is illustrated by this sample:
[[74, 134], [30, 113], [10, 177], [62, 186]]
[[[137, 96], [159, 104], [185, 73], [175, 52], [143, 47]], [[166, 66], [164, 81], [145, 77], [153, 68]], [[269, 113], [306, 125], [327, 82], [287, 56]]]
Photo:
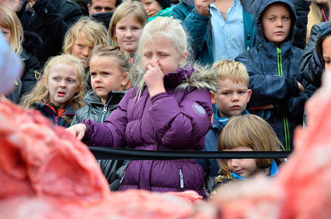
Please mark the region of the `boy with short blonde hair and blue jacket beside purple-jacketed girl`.
[[[203, 151], [217, 151], [218, 138], [231, 116], [249, 114], [247, 103], [252, 95], [248, 89], [249, 75], [244, 64], [229, 59], [216, 61], [213, 68], [220, 80], [215, 93], [211, 91], [212, 103], [217, 105], [212, 117], [212, 129], [206, 135]], [[205, 172], [205, 191], [210, 194], [217, 172], [220, 169], [217, 159], [197, 159]]]

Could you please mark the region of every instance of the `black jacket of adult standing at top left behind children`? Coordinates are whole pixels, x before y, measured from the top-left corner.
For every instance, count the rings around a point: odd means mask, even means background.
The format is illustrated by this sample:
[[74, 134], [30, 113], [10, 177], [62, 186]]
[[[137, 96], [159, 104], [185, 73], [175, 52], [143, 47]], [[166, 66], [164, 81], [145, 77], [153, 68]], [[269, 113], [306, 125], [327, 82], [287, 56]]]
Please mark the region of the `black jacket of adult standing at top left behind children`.
[[58, 55], [62, 50], [62, 44], [67, 29], [82, 16], [80, 8], [64, 0], [39, 0], [33, 6], [34, 19], [30, 24], [27, 22], [25, 12], [27, 1], [22, 4], [18, 17], [24, 30], [31, 30], [39, 34], [44, 42], [37, 58], [43, 65], [51, 56]]

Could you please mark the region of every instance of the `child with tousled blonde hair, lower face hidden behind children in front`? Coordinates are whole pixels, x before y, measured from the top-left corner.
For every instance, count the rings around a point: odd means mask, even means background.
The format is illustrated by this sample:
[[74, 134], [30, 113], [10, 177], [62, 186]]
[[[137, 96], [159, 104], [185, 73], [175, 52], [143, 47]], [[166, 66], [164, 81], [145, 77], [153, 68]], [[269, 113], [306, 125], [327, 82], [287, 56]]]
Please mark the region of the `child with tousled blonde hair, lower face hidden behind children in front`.
[[87, 59], [97, 45], [110, 45], [107, 28], [90, 17], [82, 17], [67, 31], [62, 50], [78, 57], [87, 67]]

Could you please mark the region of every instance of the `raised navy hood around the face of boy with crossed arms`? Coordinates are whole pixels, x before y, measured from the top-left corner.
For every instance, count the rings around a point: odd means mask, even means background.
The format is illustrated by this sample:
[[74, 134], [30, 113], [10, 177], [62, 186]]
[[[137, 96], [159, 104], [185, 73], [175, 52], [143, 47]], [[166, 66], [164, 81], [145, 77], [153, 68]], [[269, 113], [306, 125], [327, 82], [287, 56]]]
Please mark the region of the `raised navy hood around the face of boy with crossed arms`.
[[[288, 8], [291, 13], [291, 30], [290, 34], [288, 36], [288, 40], [285, 42], [290, 42], [292, 45], [293, 39], [294, 39], [294, 33], [296, 31], [295, 24], [297, 23], [297, 15], [292, 3], [292, 0], [256, 0], [255, 5], [255, 13], [254, 13], [254, 23], [256, 27], [256, 39], [257, 39], [257, 45], [262, 44], [265, 48], [269, 48], [267, 44], [270, 44], [270, 42], [267, 42], [263, 36], [263, 30], [262, 30], [262, 24], [260, 21], [260, 16], [262, 12], [265, 10], [266, 7], [268, 7], [270, 4], [274, 2], [283, 2], [288, 5]], [[283, 44], [285, 43], [283, 42]]]

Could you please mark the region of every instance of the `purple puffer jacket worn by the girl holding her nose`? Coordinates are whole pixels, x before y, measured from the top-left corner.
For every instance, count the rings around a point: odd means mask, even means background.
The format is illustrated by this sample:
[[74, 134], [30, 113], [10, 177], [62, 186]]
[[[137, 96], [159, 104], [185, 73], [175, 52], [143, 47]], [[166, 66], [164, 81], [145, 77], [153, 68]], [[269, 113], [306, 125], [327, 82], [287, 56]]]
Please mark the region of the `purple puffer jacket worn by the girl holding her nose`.
[[[129, 145], [141, 150], [201, 150], [213, 113], [208, 89], [214, 90], [217, 83], [206, 87], [207, 80], [211, 81], [208, 72], [186, 68], [166, 74], [166, 92], [150, 98], [145, 88], [137, 101], [137, 88], [133, 87], [102, 124], [84, 120], [87, 130], [82, 141], [89, 146]], [[203, 179], [204, 171], [195, 159], [133, 160], [124, 171], [120, 190], [194, 190], [206, 197]]]

